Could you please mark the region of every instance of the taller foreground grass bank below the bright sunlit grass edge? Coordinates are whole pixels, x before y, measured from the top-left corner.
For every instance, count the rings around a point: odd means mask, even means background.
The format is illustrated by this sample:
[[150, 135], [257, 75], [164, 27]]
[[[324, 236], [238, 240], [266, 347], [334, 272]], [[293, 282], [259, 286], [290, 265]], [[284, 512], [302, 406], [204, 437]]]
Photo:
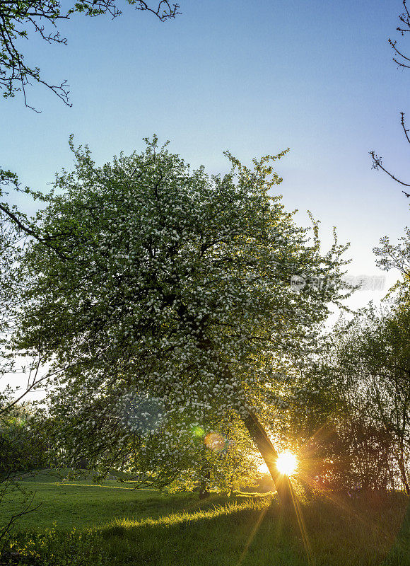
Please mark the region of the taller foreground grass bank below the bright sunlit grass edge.
[[115, 521], [98, 532], [119, 565], [410, 566], [407, 507], [399, 494], [301, 502], [305, 541], [295, 511], [272, 497]]

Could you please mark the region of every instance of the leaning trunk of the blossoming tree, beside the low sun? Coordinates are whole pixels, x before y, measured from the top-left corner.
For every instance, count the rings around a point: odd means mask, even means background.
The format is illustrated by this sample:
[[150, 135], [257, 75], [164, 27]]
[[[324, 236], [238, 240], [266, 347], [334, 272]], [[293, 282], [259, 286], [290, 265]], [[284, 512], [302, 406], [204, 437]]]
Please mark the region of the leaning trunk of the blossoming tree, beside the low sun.
[[278, 453], [275, 450], [274, 445], [271, 443], [268, 435], [266, 434], [262, 424], [260, 424], [257, 417], [250, 412], [247, 417], [242, 417], [245, 427], [250, 434], [250, 437], [256, 444], [257, 449], [261, 453], [262, 458], [268, 467], [269, 473], [271, 474], [272, 480], [274, 480], [274, 485], [276, 491], [278, 492], [279, 499], [282, 504], [288, 504], [291, 502], [291, 486], [289, 485], [289, 480], [286, 475], [279, 473], [276, 468], [276, 460], [278, 458]]

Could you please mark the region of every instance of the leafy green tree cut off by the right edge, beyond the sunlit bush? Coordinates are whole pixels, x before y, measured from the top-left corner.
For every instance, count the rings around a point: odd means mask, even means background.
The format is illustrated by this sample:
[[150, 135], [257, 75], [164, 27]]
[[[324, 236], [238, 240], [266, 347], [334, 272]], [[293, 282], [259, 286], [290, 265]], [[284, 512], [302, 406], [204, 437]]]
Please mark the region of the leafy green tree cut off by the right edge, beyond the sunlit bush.
[[340, 391], [365, 427], [373, 429], [374, 439], [390, 442], [390, 456], [410, 495], [409, 308], [377, 312], [370, 306], [341, 323], [336, 335], [334, 376]]

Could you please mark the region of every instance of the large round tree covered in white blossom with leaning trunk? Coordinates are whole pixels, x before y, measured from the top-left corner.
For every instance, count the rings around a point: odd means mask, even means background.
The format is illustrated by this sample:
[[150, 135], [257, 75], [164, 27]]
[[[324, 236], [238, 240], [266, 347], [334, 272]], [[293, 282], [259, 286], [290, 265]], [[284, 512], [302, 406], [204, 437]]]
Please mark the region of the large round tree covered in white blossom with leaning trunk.
[[23, 260], [16, 347], [64, 366], [50, 410], [93, 463], [172, 478], [192, 423], [236, 418], [280, 488], [262, 421], [343, 296], [346, 246], [321, 253], [317, 226], [310, 239], [269, 195], [285, 152], [253, 169], [227, 153], [230, 173], [209, 177], [146, 142], [103, 167], [73, 147], [76, 171], [57, 175]]

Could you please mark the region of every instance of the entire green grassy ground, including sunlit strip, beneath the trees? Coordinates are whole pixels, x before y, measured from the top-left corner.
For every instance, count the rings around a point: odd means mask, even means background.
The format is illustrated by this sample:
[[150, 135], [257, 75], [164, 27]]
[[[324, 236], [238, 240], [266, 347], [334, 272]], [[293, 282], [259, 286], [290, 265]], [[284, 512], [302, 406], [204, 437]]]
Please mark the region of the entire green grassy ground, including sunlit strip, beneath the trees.
[[[398, 493], [300, 498], [297, 514], [272, 496], [213, 495], [199, 502], [193, 494], [133, 490], [114, 481], [61, 483], [39, 475], [23, 483], [42, 506], [23, 517], [18, 538], [36, 548], [41, 539], [43, 550], [54, 544], [52, 559], [42, 564], [410, 566], [409, 500]], [[2, 506], [0, 519], [8, 511]], [[92, 547], [88, 554], [84, 545]], [[76, 556], [64, 562], [61, 548]]]

